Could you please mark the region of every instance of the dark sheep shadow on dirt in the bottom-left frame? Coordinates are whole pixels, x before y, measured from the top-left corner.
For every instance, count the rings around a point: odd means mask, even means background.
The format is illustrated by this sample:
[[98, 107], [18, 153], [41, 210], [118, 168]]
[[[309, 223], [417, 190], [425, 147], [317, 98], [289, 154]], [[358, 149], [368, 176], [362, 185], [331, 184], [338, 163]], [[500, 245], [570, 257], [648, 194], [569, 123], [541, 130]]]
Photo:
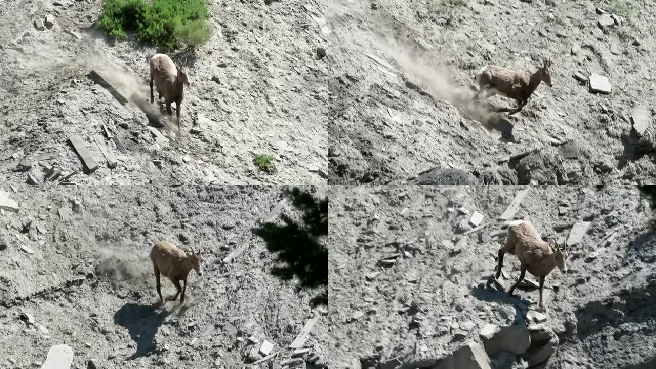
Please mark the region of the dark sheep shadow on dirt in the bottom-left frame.
[[169, 314], [165, 309], [158, 311], [155, 305], [135, 303], [126, 303], [114, 314], [114, 323], [127, 328], [130, 338], [137, 345], [136, 351], [128, 360], [155, 352], [155, 334]]

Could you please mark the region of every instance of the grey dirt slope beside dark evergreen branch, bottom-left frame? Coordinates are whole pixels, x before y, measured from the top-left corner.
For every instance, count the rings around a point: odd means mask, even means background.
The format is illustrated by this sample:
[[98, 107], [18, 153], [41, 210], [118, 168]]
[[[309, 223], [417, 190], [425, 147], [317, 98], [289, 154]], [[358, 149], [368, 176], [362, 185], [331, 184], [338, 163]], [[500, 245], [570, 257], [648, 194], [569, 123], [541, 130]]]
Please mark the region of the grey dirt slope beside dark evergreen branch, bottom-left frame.
[[[20, 207], [0, 210], [0, 368], [39, 368], [60, 343], [73, 348], [72, 368], [86, 369], [90, 358], [103, 369], [243, 367], [262, 357], [264, 339], [279, 351], [275, 368], [306, 368], [313, 355], [319, 360], [307, 368], [325, 367], [325, 307], [313, 309], [314, 293], [272, 276], [274, 255], [251, 233], [282, 186], [0, 190]], [[310, 190], [325, 196], [325, 188]], [[295, 217], [289, 206], [281, 211]], [[205, 254], [203, 276], [190, 272], [184, 305], [159, 306], [148, 255], [161, 240]], [[242, 246], [241, 256], [222, 262]], [[174, 293], [166, 278], [162, 292]], [[285, 365], [293, 352], [287, 346], [315, 316], [310, 352]]]

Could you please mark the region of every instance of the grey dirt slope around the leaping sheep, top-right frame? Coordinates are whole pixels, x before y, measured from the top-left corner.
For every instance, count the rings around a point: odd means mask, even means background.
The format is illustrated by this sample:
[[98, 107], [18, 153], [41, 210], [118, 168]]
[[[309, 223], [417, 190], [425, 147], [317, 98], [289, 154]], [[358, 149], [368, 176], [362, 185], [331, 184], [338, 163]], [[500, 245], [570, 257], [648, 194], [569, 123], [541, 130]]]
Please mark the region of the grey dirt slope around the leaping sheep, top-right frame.
[[[402, 183], [429, 169], [420, 183], [653, 182], [655, 6], [652, 0], [331, 3], [330, 183]], [[602, 30], [597, 7], [623, 24]], [[491, 112], [514, 106], [504, 97], [471, 102], [473, 76], [483, 66], [534, 72], [543, 56], [552, 58], [554, 87], [541, 84], [522, 112]], [[576, 72], [608, 77], [611, 95], [591, 93]], [[634, 112], [646, 124], [642, 137], [632, 129]], [[461, 176], [441, 175], [446, 169]]]

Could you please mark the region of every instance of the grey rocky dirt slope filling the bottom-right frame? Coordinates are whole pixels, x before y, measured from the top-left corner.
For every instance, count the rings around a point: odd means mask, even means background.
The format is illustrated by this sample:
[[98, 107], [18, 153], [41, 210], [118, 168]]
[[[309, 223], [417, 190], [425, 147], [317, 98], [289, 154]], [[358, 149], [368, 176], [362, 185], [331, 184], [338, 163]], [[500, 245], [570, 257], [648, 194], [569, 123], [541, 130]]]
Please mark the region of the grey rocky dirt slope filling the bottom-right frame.
[[[525, 187], [331, 189], [331, 364], [432, 368], [464, 342], [480, 341], [485, 324], [525, 324], [537, 309], [538, 292], [518, 288], [516, 297], [508, 297], [519, 275], [517, 257], [504, 259], [507, 279], [498, 285], [490, 280], [505, 240], [497, 219]], [[461, 207], [483, 213], [487, 223], [464, 244], [457, 240], [472, 226]], [[514, 218], [529, 219], [542, 236], [558, 240], [573, 224], [591, 222], [581, 242], [571, 246], [567, 274], [554, 269], [546, 278], [550, 297], [544, 324], [558, 335], [560, 346], [538, 367], [653, 368], [653, 215], [635, 186], [531, 187]], [[380, 265], [385, 258], [396, 263]], [[464, 331], [458, 328], [463, 326]], [[400, 366], [386, 365], [395, 358]], [[492, 360], [496, 369], [527, 368], [512, 355], [504, 363]]]

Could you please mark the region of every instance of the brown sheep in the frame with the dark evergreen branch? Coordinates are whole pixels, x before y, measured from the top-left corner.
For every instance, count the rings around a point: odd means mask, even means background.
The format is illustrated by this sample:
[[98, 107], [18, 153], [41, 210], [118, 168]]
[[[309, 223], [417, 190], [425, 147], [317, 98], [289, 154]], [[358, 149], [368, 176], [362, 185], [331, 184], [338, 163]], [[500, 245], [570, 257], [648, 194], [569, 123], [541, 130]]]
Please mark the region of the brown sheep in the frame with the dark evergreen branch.
[[[189, 254], [176, 248], [171, 242], [162, 241], [153, 245], [152, 250], [150, 250], [150, 260], [153, 262], [153, 268], [155, 269], [157, 293], [159, 293], [159, 299], [162, 303], [164, 303], [164, 299], [159, 284], [160, 273], [168, 277], [178, 289], [178, 292], [171, 300], [175, 301], [178, 295], [182, 293], [182, 297], [180, 297], [181, 303], [184, 303], [184, 293], [187, 290], [187, 275], [189, 271], [193, 268], [199, 276], [203, 275], [203, 255], [201, 250], [194, 252], [192, 248], [192, 253]], [[181, 280], [184, 281], [183, 288], [180, 287]]]

